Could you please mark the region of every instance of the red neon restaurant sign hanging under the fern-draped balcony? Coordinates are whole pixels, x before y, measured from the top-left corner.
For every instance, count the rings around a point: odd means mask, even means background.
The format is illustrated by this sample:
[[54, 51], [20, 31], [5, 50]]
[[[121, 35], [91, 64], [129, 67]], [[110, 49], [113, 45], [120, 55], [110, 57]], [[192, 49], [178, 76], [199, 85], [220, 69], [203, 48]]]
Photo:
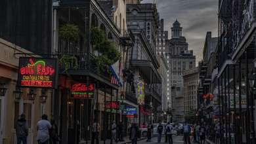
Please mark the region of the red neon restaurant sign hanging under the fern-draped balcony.
[[72, 84], [71, 96], [72, 98], [93, 98], [95, 94], [95, 84], [75, 83]]

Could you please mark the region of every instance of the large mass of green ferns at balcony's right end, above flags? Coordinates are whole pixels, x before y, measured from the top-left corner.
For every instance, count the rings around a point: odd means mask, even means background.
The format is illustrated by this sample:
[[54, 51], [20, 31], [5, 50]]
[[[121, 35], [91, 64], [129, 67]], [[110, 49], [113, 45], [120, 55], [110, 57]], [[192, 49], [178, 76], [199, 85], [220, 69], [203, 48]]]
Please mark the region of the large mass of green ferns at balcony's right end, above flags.
[[91, 30], [91, 45], [93, 50], [97, 50], [100, 56], [96, 56], [96, 70], [98, 73], [106, 71], [110, 73], [109, 66], [119, 60], [121, 53], [117, 50], [116, 45], [106, 39], [104, 31], [98, 27]]

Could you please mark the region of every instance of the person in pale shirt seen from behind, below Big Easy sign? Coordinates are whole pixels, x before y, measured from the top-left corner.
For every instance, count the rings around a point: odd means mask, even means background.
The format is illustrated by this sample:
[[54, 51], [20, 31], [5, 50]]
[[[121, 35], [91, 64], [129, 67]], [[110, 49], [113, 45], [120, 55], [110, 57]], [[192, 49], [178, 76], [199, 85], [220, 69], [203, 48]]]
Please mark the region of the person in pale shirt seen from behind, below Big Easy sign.
[[43, 115], [42, 119], [37, 122], [37, 142], [39, 144], [48, 144], [49, 143], [49, 130], [52, 128], [51, 123], [48, 121], [48, 116]]

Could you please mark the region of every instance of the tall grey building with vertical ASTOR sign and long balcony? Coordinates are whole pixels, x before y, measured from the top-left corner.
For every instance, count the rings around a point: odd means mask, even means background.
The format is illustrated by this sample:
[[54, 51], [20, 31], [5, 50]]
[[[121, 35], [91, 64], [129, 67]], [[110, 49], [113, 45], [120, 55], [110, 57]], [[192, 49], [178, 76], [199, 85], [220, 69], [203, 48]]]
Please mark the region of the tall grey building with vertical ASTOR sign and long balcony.
[[139, 123], [158, 122], [161, 115], [161, 75], [156, 58], [158, 21], [156, 5], [127, 4], [127, 27], [135, 36], [134, 46], [127, 54], [131, 58], [131, 64], [127, 64], [135, 73], [135, 81], [143, 80], [146, 83], [144, 104], [138, 103]]

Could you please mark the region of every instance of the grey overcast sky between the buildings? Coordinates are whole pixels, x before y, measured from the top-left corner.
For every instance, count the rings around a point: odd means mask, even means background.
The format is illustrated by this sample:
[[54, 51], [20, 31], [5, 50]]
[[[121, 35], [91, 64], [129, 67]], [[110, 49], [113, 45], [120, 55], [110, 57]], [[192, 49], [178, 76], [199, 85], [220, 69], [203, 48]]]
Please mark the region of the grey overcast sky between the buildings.
[[[143, 0], [142, 3], [153, 3], [154, 0]], [[155, 0], [164, 19], [165, 31], [169, 31], [177, 19], [183, 27], [182, 35], [186, 37], [188, 49], [194, 50], [196, 62], [202, 60], [203, 44], [207, 31], [217, 37], [217, 0]]]

